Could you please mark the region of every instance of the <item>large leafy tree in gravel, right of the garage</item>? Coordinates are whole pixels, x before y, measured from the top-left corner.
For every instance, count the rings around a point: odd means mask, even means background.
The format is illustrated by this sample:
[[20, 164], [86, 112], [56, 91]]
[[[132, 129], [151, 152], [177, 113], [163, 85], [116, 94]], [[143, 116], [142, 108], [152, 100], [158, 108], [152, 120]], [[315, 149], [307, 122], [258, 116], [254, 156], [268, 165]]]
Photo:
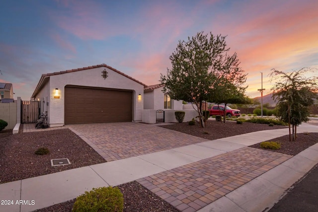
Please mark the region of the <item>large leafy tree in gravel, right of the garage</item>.
[[[238, 68], [236, 53], [228, 55], [226, 36], [199, 32], [188, 41], [179, 41], [176, 50], [169, 57], [172, 68], [160, 77], [171, 98], [191, 102], [199, 114], [200, 123], [205, 127], [202, 103], [213, 99], [217, 86], [235, 77]], [[240, 70], [240, 69], [239, 69]], [[238, 76], [242, 77], [242, 76]]]

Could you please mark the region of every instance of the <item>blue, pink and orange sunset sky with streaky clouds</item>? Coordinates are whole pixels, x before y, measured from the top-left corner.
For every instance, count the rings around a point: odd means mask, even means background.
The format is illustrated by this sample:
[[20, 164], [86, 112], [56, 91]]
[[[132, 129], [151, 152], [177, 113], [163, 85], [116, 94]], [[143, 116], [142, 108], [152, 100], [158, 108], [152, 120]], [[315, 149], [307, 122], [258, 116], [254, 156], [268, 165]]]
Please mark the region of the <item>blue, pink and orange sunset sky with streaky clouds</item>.
[[260, 72], [265, 95], [271, 69], [318, 68], [318, 0], [5, 0], [0, 82], [29, 100], [42, 73], [105, 63], [158, 84], [178, 41], [200, 31], [227, 35], [250, 97]]

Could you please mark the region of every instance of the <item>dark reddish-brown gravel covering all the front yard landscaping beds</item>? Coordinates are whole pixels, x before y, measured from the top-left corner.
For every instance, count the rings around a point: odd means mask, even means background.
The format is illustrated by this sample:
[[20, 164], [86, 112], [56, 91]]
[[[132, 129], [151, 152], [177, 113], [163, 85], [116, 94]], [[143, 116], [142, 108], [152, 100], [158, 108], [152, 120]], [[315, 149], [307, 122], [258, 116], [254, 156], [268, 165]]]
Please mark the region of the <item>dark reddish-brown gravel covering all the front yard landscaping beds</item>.
[[[207, 128], [201, 129], [198, 124], [189, 126], [187, 123], [161, 126], [193, 136], [215, 140], [261, 130], [286, 128], [283, 126], [236, 122], [220, 123], [209, 121]], [[296, 142], [288, 141], [288, 136], [271, 141], [278, 141], [282, 148], [277, 152], [295, 155], [318, 142], [318, 133], [298, 134]], [[48, 155], [35, 155], [39, 147], [47, 147]], [[259, 148], [259, 144], [251, 147]], [[51, 159], [68, 158], [71, 165], [51, 166]], [[0, 184], [15, 180], [50, 174], [82, 166], [106, 162], [86, 142], [68, 129], [52, 130], [12, 135], [11, 131], [0, 132]], [[125, 199], [124, 211], [177, 211], [161, 200], [158, 196], [145, 189], [136, 181], [118, 186]], [[75, 200], [57, 204], [39, 212], [71, 212]]]

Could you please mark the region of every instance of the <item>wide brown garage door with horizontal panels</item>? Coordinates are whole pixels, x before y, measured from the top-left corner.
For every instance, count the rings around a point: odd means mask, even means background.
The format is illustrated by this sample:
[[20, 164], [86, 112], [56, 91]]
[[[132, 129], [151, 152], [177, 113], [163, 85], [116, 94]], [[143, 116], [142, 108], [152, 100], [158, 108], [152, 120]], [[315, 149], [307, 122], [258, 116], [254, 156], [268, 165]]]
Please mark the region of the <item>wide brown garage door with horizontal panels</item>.
[[132, 121], [132, 91], [65, 87], [65, 124]]

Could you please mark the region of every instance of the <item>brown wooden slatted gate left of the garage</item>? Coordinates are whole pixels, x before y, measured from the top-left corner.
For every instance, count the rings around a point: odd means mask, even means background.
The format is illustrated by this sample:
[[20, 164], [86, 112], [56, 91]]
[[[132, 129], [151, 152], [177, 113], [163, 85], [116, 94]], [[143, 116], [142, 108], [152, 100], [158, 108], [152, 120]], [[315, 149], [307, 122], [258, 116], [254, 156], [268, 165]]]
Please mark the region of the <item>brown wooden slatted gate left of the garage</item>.
[[21, 101], [21, 123], [36, 123], [40, 115], [39, 101]]

